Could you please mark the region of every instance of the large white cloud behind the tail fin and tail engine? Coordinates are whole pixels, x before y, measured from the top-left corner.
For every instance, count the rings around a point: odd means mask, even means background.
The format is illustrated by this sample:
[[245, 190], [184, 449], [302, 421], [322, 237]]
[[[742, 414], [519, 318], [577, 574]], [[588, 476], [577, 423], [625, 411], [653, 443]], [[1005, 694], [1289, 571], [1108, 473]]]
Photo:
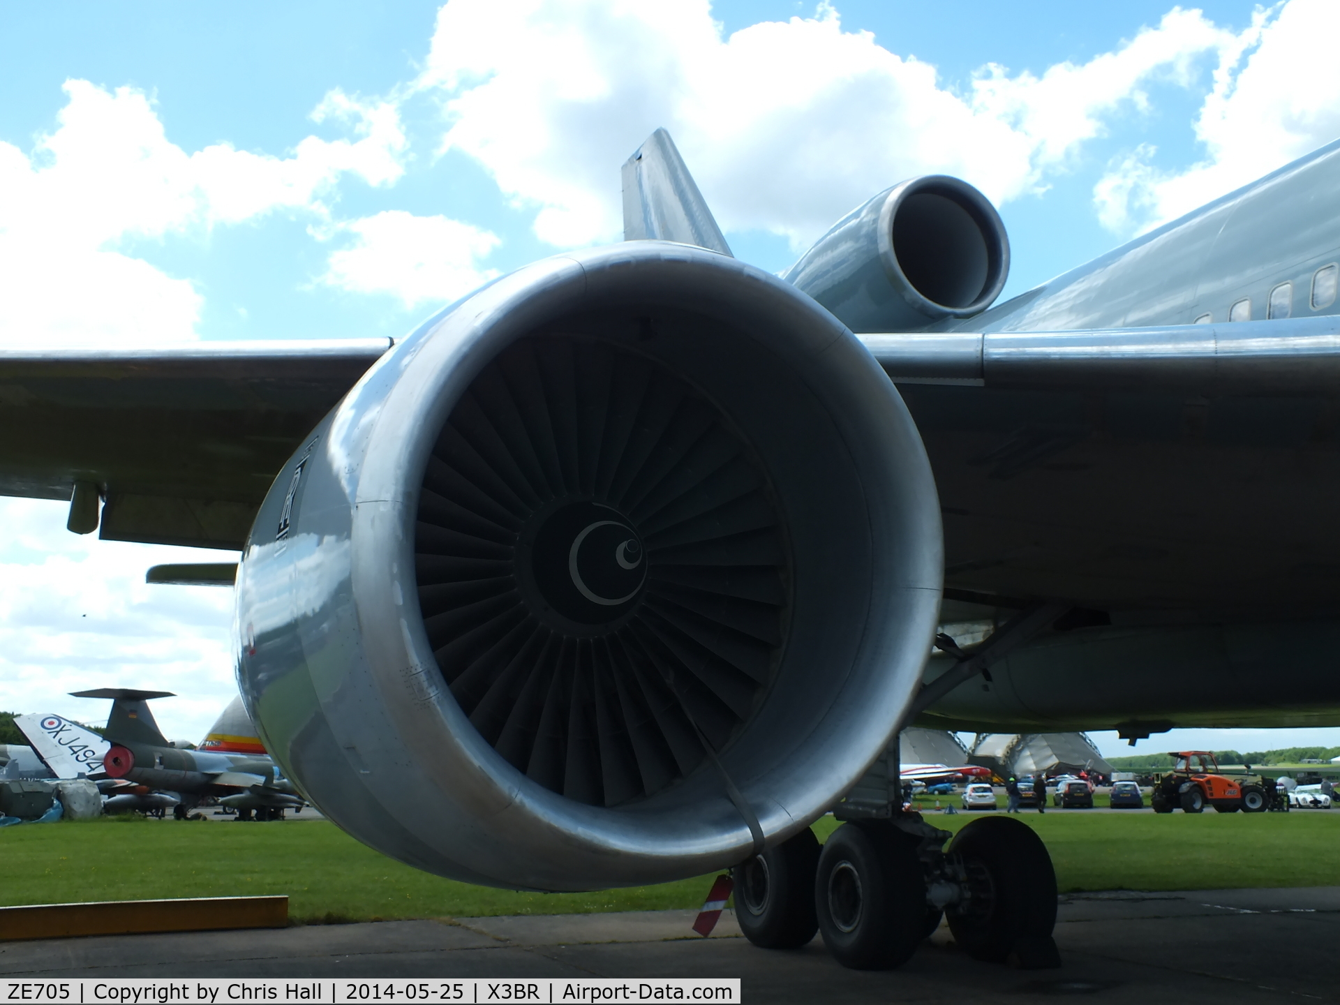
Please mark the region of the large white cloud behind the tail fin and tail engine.
[[706, 0], [450, 0], [418, 82], [444, 96], [442, 149], [477, 158], [556, 245], [615, 240], [618, 165], [666, 126], [728, 230], [804, 247], [887, 185], [947, 172], [997, 202], [1036, 190], [1123, 102], [1186, 83], [1233, 36], [1170, 12], [1114, 52], [1037, 78], [990, 67], [969, 94], [868, 32], [813, 17], [724, 38]]

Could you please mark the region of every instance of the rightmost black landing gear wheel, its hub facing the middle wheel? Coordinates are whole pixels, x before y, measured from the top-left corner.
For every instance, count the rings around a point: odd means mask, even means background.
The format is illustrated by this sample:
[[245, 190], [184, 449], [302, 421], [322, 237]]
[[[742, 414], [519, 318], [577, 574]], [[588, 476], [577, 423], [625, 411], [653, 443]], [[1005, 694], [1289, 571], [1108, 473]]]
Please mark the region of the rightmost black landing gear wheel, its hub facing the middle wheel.
[[967, 874], [972, 896], [946, 909], [954, 941], [974, 959], [1025, 970], [1061, 965], [1056, 927], [1056, 871], [1043, 839], [1010, 817], [973, 820], [945, 852]]

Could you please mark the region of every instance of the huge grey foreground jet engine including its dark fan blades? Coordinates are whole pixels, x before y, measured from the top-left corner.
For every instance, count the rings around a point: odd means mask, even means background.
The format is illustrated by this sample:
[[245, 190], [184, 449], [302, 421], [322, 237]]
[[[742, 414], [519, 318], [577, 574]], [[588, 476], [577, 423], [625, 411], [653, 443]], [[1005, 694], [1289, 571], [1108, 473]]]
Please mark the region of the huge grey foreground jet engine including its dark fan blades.
[[237, 578], [265, 748], [387, 855], [504, 887], [699, 875], [884, 749], [941, 527], [896, 390], [775, 276], [631, 241], [437, 315], [308, 437]]

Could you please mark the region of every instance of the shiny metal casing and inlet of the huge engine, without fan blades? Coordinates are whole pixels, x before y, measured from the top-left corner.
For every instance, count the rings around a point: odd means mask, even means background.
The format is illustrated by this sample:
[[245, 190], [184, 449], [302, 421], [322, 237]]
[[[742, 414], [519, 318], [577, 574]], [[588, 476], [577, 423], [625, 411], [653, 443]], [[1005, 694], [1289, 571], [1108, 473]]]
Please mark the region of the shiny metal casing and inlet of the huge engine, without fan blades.
[[[615, 807], [557, 795], [480, 736], [415, 575], [419, 486], [460, 397], [519, 339], [572, 335], [646, 356], [729, 417], [770, 482], [792, 578], [748, 721], [678, 784]], [[239, 567], [237, 673], [267, 749], [359, 840], [494, 886], [653, 883], [746, 858], [750, 817], [768, 844], [789, 838], [859, 777], [919, 679], [939, 575], [925, 454], [870, 354], [775, 276], [634, 241], [541, 261], [431, 319], [303, 442]]]

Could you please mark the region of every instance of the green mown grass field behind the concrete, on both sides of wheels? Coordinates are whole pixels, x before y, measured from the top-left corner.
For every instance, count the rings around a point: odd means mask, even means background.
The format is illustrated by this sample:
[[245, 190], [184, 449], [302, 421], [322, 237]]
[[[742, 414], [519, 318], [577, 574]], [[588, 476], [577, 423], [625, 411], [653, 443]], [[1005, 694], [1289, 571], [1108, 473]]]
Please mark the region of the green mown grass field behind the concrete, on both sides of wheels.
[[[957, 831], [973, 813], [927, 820]], [[1168, 816], [1026, 812], [1063, 891], [1340, 884], [1340, 812]], [[831, 817], [815, 825], [820, 838]], [[288, 894], [297, 922], [699, 907], [710, 878], [595, 894], [456, 883], [393, 862], [322, 820], [105, 819], [0, 829], [0, 904]]]

